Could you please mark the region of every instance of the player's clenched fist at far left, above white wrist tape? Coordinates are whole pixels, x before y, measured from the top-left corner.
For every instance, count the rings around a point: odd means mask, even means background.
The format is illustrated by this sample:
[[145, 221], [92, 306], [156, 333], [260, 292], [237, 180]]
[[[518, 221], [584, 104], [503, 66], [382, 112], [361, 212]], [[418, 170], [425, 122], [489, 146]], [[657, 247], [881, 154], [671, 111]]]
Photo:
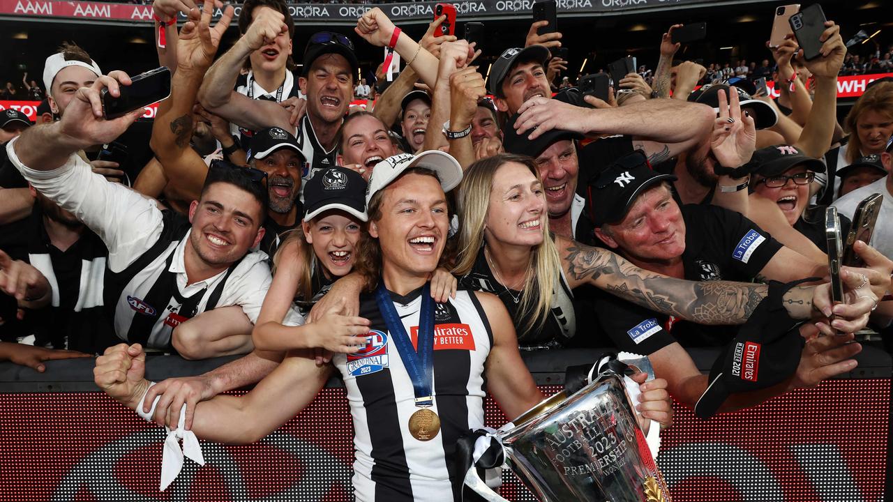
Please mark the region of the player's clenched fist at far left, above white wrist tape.
[[131, 410], [137, 409], [139, 400], [146, 393], [149, 382], [146, 373], [146, 353], [138, 343], [121, 343], [105, 349], [96, 358], [93, 380], [99, 389]]

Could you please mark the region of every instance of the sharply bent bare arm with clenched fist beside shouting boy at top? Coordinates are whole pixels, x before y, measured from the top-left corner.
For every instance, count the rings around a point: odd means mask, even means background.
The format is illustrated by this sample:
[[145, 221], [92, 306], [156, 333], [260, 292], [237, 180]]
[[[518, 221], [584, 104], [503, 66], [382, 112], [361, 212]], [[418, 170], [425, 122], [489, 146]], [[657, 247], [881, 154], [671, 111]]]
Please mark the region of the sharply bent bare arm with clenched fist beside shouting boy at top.
[[257, 9], [255, 19], [241, 38], [223, 54], [204, 75], [198, 99], [209, 112], [220, 115], [250, 130], [280, 127], [294, 131], [291, 113], [272, 101], [250, 99], [234, 91], [238, 72], [255, 50], [266, 40], [272, 40], [288, 31], [285, 17], [272, 9]]

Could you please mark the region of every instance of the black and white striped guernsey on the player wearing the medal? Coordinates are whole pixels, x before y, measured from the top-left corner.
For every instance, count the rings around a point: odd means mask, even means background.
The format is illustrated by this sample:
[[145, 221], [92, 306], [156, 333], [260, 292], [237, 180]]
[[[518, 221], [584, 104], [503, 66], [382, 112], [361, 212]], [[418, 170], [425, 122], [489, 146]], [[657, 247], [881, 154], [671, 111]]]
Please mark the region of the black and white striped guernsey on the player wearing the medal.
[[[391, 293], [406, 332], [415, 340], [421, 289]], [[338, 354], [354, 420], [355, 497], [359, 502], [459, 500], [450, 485], [456, 439], [484, 424], [484, 363], [493, 333], [474, 292], [460, 289], [434, 318], [434, 407], [441, 429], [429, 441], [409, 434], [417, 408], [413, 383], [396, 351], [374, 294], [360, 297], [360, 315], [371, 321], [371, 342], [357, 354]]]

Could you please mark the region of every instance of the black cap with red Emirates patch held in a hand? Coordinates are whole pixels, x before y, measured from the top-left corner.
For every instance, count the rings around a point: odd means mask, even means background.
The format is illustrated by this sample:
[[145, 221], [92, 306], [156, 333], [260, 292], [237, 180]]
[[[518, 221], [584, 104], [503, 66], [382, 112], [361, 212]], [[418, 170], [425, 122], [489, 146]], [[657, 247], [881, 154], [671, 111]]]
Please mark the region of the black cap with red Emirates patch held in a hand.
[[[786, 285], [773, 281], [769, 288], [772, 297], [782, 295]], [[716, 358], [695, 414], [706, 420], [731, 394], [766, 389], [797, 372], [804, 345], [797, 329], [801, 323], [791, 319], [780, 302], [766, 298], [756, 305], [735, 339]]]

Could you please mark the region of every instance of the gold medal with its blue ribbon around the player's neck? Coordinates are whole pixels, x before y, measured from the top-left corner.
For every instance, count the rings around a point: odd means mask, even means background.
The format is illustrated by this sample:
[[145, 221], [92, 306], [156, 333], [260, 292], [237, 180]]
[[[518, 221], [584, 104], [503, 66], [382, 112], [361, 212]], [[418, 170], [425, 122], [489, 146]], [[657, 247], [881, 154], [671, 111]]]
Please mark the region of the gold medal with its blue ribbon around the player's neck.
[[434, 406], [431, 389], [434, 381], [434, 299], [430, 295], [430, 284], [425, 284], [421, 289], [417, 347], [413, 347], [413, 342], [406, 334], [383, 279], [379, 280], [379, 287], [375, 289], [375, 300], [385, 324], [388, 325], [397, 354], [413, 381], [415, 406], [420, 408], [409, 417], [409, 433], [420, 441], [430, 441], [440, 431], [440, 417], [431, 409]]

